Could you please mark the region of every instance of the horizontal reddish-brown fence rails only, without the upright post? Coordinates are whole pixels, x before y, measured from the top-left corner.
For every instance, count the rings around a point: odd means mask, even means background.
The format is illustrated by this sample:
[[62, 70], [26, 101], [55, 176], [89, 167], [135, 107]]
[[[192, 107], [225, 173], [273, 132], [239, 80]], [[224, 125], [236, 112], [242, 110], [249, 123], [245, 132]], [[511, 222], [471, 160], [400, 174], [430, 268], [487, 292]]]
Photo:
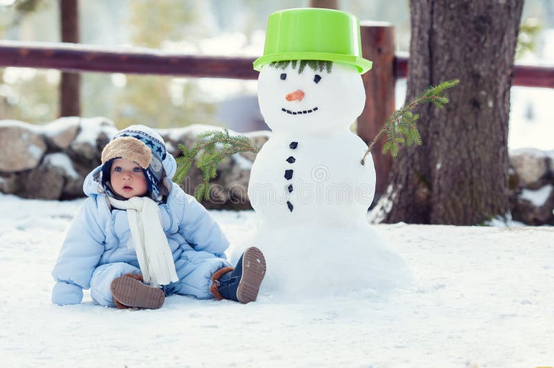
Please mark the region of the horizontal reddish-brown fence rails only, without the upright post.
[[[140, 49], [139, 49], [140, 50]], [[109, 50], [73, 44], [0, 41], [0, 67], [47, 68], [69, 72], [129, 73], [255, 80], [256, 57], [197, 56], [136, 48]], [[408, 75], [406, 56], [394, 57], [396, 78]], [[371, 73], [371, 72], [370, 72]], [[516, 65], [515, 86], [554, 88], [554, 66]]]

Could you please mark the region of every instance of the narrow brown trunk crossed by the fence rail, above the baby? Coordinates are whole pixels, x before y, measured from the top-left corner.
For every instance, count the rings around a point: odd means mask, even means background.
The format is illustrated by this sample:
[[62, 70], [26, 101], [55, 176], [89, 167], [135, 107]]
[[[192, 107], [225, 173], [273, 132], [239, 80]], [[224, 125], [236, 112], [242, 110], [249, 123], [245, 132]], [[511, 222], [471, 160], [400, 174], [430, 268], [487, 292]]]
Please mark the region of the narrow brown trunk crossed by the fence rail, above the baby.
[[[78, 0], [60, 0], [62, 42], [79, 42]], [[60, 82], [60, 116], [80, 116], [79, 73], [62, 73]]]

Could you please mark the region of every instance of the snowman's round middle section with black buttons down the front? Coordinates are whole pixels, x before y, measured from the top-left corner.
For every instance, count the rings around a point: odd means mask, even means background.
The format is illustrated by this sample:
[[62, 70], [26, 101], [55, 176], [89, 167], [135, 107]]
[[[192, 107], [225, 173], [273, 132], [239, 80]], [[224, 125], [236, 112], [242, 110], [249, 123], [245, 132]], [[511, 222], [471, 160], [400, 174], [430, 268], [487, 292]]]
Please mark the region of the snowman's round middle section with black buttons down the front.
[[344, 129], [333, 134], [275, 134], [253, 164], [249, 199], [262, 221], [345, 226], [364, 221], [373, 199], [367, 145]]

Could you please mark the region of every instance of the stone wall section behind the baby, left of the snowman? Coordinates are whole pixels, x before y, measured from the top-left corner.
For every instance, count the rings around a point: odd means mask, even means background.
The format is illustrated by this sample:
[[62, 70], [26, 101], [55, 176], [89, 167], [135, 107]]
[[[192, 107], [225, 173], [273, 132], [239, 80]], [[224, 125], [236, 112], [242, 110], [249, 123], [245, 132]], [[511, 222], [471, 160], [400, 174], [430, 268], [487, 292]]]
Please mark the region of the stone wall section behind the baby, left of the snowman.
[[[168, 152], [181, 156], [179, 144], [193, 147], [197, 134], [221, 129], [192, 125], [181, 129], [158, 129]], [[100, 165], [100, 155], [118, 129], [107, 118], [60, 118], [48, 125], [30, 125], [0, 120], [0, 192], [29, 199], [75, 199], [84, 196], [85, 176]], [[232, 133], [232, 132], [231, 132]], [[269, 131], [247, 134], [261, 147]], [[245, 152], [224, 160], [211, 182], [211, 199], [206, 208], [249, 209], [247, 198], [250, 169], [255, 154]], [[182, 187], [194, 194], [202, 183], [196, 165], [189, 170]]]

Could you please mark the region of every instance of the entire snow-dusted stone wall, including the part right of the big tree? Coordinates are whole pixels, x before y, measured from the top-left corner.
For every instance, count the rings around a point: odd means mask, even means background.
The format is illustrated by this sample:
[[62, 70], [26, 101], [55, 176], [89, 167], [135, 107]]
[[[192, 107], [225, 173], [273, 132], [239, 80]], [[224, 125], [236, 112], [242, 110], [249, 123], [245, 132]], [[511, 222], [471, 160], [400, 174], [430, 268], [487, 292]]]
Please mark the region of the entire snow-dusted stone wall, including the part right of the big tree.
[[[221, 129], [192, 125], [159, 129], [168, 152], [180, 156], [179, 144], [190, 148], [197, 134]], [[48, 125], [0, 120], [0, 192], [31, 199], [74, 199], [83, 196], [82, 183], [100, 165], [100, 154], [118, 129], [107, 118], [61, 118]], [[268, 131], [247, 134], [262, 147]], [[206, 208], [249, 209], [250, 169], [255, 154], [236, 154], [220, 163], [211, 182]], [[202, 175], [193, 165], [182, 183], [194, 193]], [[554, 151], [522, 149], [510, 152], [512, 219], [530, 225], [554, 225]]]

